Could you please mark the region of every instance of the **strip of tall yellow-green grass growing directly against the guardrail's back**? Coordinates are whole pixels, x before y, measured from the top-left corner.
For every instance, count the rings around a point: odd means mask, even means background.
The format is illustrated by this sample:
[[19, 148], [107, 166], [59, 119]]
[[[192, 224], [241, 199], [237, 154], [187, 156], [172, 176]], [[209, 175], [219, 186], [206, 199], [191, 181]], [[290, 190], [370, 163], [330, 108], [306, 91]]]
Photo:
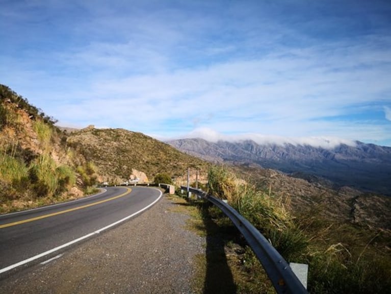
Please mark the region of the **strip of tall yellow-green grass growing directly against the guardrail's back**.
[[256, 227], [289, 261], [300, 261], [307, 250], [308, 238], [293, 222], [281, 199], [275, 199], [239, 180], [222, 166], [208, 172], [208, 191], [228, 204]]

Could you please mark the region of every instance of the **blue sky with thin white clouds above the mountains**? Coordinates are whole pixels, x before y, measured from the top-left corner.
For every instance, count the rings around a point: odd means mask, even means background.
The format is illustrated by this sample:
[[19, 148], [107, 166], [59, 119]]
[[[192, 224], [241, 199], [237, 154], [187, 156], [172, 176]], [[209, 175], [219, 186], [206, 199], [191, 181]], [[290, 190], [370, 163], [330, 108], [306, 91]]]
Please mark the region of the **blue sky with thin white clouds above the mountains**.
[[3, 0], [0, 83], [61, 126], [391, 146], [390, 15], [388, 0]]

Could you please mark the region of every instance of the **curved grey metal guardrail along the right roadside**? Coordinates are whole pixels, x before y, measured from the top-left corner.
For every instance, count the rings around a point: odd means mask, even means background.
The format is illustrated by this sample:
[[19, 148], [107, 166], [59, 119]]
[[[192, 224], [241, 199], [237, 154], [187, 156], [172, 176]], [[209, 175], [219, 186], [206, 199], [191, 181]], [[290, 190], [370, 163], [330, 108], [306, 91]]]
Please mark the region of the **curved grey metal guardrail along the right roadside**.
[[[188, 187], [182, 186], [187, 190]], [[250, 222], [222, 200], [206, 194], [206, 192], [189, 188], [193, 194], [212, 202], [219, 207], [225, 215], [245, 237], [252, 251], [262, 263], [269, 279], [277, 293], [308, 293], [303, 284], [297, 278], [288, 262], [277, 252], [272, 244]]]

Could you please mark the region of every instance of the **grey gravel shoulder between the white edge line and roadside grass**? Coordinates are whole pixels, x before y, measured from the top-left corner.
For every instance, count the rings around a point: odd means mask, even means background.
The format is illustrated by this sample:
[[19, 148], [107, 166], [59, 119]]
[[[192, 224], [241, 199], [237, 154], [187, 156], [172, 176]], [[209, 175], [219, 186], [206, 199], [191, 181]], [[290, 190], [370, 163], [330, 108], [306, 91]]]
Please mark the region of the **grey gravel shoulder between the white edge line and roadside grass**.
[[143, 214], [0, 280], [1, 293], [194, 293], [205, 238], [166, 195]]

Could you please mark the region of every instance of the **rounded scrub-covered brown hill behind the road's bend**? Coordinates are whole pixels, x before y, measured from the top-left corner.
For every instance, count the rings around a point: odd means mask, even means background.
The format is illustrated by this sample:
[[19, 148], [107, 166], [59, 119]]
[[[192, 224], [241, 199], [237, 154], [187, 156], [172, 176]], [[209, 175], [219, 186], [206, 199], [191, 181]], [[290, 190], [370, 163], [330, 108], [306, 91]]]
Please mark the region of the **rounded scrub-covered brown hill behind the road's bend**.
[[[102, 181], [120, 183], [145, 174], [152, 181], [159, 173], [184, 179], [188, 167], [207, 170], [208, 163], [174, 149], [142, 133], [124, 129], [95, 129], [72, 132], [67, 144], [93, 162]], [[147, 181], [147, 180], [146, 180]]]

